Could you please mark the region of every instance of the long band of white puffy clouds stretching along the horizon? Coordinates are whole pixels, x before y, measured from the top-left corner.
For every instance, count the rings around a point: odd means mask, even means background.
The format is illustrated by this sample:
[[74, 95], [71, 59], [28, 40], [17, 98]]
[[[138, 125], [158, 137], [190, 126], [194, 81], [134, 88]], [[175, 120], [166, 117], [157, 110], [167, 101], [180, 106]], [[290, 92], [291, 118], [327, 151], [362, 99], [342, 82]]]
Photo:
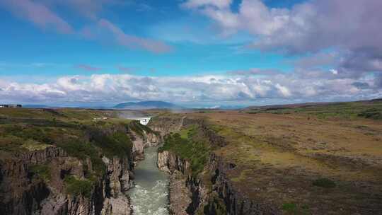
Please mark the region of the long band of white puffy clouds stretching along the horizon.
[[[249, 74], [249, 75], [248, 75]], [[51, 83], [30, 84], [0, 81], [0, 100], [52, 103], [118, 103], [126, 100], [170, 100], [178, 103], [262, 103], [266, 100], [312, 101], [375, 98], [381, 95], [367, 76], [343, 78], [330, 71], [326, 76], [303, 76], [298, 72], [253, 76], [135, 76], [93, 74], [63, 76]]]

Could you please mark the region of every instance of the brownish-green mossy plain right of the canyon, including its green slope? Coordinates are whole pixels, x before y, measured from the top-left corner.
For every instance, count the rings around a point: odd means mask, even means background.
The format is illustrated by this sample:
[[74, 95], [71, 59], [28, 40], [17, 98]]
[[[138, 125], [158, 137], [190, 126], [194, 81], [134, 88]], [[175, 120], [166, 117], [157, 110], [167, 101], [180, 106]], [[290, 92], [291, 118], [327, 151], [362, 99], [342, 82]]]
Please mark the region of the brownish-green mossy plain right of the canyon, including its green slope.
[[187, 125], [163, 149], [216, 153], [234, 164], [238, 192], [284, 214], [382, 214], [381, 110], [374, 101], [182, 113], [228, 144], [192, 146]]

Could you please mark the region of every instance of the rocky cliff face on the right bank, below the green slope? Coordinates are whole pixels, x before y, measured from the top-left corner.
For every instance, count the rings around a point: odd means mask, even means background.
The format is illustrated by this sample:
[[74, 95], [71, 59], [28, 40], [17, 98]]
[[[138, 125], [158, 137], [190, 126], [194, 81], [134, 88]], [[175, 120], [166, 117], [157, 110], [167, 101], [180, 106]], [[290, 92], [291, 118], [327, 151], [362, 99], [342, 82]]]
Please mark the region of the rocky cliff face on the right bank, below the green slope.
[[[201, 127], [203, 136], [209, 140], [212, 146], [226, 146], [226, 141], [222, 136], [215, 134], [202, 120], [185, 119], [185, 125], [197, 123]], [[235, 168], [233, 163], [226, 163], [221, 157], [211, 153], [209, 161], [204, 170], [199, 175], [190, 173], [190, 163], [170, 151], [158, 153], [158, 168], [172, 175], [182, 175], [185, 180], [170, 180], [170, 208], [175, 207], [178, 211], [173, 214], [230, 214], [230, 215], [255, 215], [255, 214], [282, 214], [271, 205], [257, 204], [248, 197], [241, 194], [231, 180], [226, 176], [226, 172]], [[183, 184], [171, 185], [183, 182]], [[186, 187], [189, 191], [173, 193], [175, 198], [171, 197], [171, 189], [182, 190], [179, 186]], [[178, 186], [178, 187], [177, 187]], [[179, 200], [189, 198], [186, 206], [178, 207]], [[187, 202], [187, 199], [184, 202]]]

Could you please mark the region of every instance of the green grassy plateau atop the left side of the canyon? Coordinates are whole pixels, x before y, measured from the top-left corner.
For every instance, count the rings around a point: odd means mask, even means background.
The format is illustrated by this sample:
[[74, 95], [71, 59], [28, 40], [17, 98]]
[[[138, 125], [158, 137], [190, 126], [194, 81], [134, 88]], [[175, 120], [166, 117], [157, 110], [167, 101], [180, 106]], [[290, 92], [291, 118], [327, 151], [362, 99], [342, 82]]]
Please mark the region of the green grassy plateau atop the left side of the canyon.
[[[117, 112], [79, 109], [0, 110], [0, 150], [7, 153], [46, 149], [56, 145], [69, 156], [90, 158], [96, 174], [102, 174], [102, 155], [130, 158], [132, 141], [129, 129], [143, 136], [153, 132], [138, 121], [113, 118]], [[94, 118], [106, 120], [94, 120]], [[155, 133], [155, 132], [153, 132]], [[155, 133], [156, 134], [156, 133]], [[88, 176], [92, 170], [88, 170]]]

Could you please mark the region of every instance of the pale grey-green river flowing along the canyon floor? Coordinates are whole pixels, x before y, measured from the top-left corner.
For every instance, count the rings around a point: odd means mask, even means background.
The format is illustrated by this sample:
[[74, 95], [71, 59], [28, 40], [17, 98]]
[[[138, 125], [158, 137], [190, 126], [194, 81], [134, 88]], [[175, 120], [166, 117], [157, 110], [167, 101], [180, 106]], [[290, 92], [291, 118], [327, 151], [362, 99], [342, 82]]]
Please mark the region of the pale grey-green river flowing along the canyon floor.
[[135, 187], [129, 190], [134, 215], [166, 215], [168, 213], [168, 178], [156, 166], [158, 147], [144, 150], [145, 159], [134, 168]]

